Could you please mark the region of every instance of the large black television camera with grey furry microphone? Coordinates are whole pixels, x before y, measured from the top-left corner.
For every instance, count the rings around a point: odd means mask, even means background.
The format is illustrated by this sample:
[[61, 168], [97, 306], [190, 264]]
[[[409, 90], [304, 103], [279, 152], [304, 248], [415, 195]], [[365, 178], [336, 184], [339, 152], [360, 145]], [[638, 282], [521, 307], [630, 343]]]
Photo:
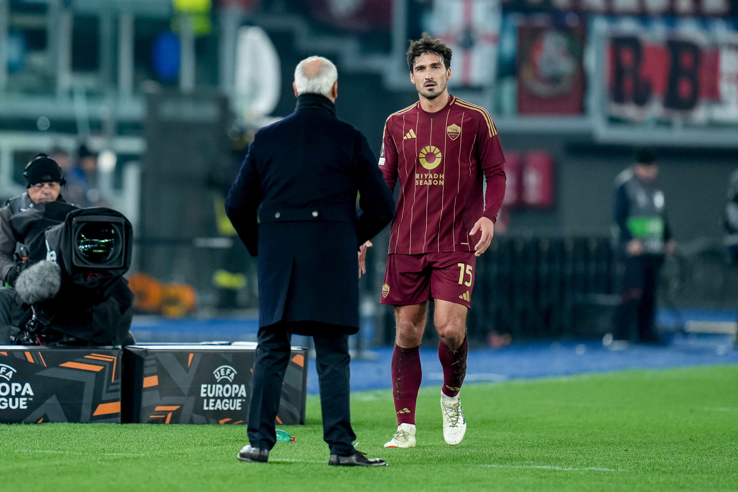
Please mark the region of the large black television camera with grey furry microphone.
[[19, 299], [11, 338], [28, 345], [134, 343], [131, 266], [133, 232], [123, 214], [48, 202], [13, 215], [24, 232], [15, 282]]

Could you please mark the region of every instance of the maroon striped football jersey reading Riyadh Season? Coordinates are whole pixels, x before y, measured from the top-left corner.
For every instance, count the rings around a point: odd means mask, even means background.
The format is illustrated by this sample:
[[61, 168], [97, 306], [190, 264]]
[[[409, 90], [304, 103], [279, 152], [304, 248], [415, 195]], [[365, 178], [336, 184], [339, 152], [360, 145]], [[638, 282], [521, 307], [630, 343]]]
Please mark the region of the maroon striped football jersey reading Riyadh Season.
[[480, 106], [451, 96], [435, 113], [418, 102], [390, 114], [379, 158], [390, 189], [400, 182], [390, 254], [474, 251], [481, 233], [470, 237], [472, 227], [482, 216], [496, 221], [503, 203], [504, 163]]

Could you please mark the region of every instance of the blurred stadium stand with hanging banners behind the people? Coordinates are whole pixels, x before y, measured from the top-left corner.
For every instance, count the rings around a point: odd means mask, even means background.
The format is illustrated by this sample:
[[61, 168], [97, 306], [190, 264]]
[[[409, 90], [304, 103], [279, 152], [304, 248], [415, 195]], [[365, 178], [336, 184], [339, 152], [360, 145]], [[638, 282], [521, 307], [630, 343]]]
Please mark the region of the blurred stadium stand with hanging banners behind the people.
[[[339, 117], [378, 153], [387, 115], [417, 99], [407, 40], [429, 30], [455, 49], [452, 92], [488, 108], [508, 162], [520, 156], [520, 199], [478, 266], [475, 343], [608, 330], [611, 186], [634, 145], [658, 150], [680, 242], [663, 319], [732, 311], [721, 219], [738, 167], [737, 17], [737, 0], [0, 0], [0, 198], [24, 190], [38, 151], [107, 150], [89, 178], [137, 228], [134, 269], [193, 285], [199, 316], [252, 315], [254, 263], [222, 200], [254, 131], [294, 108], [297, 61], [337, 63]], [[376, 302], [386, 242], [361, 283], [375, 344], [392, 339]]]

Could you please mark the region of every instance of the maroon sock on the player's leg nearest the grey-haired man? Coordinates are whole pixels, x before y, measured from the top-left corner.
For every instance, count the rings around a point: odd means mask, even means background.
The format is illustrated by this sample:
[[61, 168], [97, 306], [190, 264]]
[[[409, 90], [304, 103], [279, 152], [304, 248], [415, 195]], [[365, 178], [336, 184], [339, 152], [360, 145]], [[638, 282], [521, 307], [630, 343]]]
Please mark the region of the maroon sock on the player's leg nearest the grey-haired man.
[[415, 403], [423, 378], [420, 365], [420, 347], [403, 348], [395, 345], [392, 353], [392, 395], [397, 412], [397, 425], [415, 425]]

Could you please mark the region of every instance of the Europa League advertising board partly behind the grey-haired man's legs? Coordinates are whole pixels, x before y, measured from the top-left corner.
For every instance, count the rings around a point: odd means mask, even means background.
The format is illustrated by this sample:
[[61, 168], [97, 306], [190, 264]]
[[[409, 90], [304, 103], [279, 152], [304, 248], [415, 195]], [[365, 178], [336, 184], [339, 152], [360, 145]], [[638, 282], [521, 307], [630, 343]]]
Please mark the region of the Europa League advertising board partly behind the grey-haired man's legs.
[[[256, 344], [141, 344], [125, 348], [123, 422], [249, 420]], [[305, 423], [308, 350], [292, 347], [277, 423]]]

